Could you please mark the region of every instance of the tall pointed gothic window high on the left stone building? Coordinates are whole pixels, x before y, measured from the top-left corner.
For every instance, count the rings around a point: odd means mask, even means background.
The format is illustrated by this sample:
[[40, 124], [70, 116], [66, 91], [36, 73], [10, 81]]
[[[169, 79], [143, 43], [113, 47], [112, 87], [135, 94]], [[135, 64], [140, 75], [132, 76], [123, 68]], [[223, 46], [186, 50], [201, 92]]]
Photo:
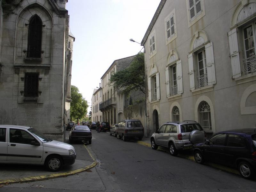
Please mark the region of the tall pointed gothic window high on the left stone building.
[[28, 28], [27, 57], [41, 58], [42, 20], [38, 15], [32, 16]]

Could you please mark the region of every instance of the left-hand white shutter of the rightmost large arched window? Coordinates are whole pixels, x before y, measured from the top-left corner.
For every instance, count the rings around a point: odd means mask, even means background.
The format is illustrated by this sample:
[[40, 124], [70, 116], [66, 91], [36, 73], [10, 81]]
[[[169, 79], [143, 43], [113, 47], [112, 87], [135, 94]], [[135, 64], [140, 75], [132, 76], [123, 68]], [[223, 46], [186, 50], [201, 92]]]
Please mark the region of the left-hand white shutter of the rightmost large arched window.
[[232, 78], [241, 76], [241, 64], [239, 56], [238, 38], [236, 28], [228, 32], [229, 56], [231, 62]]

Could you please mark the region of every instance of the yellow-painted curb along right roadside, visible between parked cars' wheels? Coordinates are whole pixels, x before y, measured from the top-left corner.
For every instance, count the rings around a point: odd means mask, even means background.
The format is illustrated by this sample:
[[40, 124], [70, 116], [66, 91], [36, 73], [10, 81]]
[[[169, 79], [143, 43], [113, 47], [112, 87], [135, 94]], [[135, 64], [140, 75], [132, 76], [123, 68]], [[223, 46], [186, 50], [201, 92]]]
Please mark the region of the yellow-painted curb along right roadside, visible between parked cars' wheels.
[[[143, 146], [151, 148], [151, 144], [150, 143], [146, 143], [146, 142], [143, 142], [143, 141], [137, 141], [137, 143], [139, 143], [140, 145], [143, 145]], [[158, 151], [164, 151], [166, 153], [169, 152], [169, 150], [164, 150], [162, 148], [158, 148], [157, 150]], [[181, 157], [181, 158], [185, 158], [185, 159], [188, 159], [190, 161], [194, 161], [195, 162], [194, 156], [185, 155], [185, 154], [178, 154], [178, 156]], [[216, 169], [219, 169], [219, 171], [226, 171], [226, 172], [229, 172], [229, 173], [240, 175], [238, 170], [226, 167], [224, 165], [210, 163], [210, 162], [205, 162], [204, 165], [214, 167]]]

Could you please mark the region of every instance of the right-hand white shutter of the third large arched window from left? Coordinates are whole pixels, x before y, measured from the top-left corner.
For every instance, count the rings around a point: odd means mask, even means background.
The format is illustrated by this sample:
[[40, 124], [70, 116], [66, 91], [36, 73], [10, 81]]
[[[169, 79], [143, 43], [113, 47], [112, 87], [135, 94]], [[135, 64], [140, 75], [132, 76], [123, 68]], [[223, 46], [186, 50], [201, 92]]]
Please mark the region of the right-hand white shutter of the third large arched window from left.
[[212, 42], [205, 45], [205, 55], [206, 55], [208, 85], [213, 85], [213, 84], [216, 84], [216, 76], [215, 76]]

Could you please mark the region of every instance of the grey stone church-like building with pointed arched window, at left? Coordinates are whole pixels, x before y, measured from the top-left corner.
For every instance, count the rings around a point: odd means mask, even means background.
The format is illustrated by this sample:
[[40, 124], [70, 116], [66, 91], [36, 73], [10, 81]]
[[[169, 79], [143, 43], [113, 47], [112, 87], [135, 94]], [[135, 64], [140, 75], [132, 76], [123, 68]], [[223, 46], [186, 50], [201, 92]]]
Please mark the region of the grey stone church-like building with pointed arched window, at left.
[[0, 124], [63, 140], [68, 63], [67, 0], [0, 5]]

